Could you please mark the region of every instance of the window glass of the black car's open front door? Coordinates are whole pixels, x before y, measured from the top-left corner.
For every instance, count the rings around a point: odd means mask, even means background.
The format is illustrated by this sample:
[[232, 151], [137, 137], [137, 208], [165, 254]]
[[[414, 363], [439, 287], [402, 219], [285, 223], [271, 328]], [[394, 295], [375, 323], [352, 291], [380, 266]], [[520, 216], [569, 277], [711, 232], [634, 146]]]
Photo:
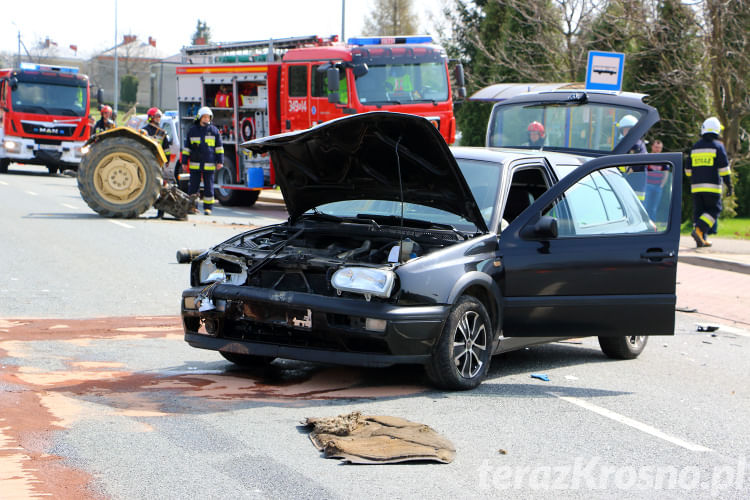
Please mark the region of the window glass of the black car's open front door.
[[643, 171], [646, 166], [596, 170], [566, 190], [545, 215], [558, 219], [560, 238], [665, 230], [672, 183], [669, 182], [671, 168], [668, 165], [661, 167], [660, 172], [668, 178], [660, 179], [658, 203], [663, 201], [667, 205], [660, 207], [660, 214], [655, 219], [646, 210], [645, 200], [639, 197], [639, 185], [633, 185], [633, 179], [629, 178], [636, 175], [636, 179], [642, 178], [645, 182]]

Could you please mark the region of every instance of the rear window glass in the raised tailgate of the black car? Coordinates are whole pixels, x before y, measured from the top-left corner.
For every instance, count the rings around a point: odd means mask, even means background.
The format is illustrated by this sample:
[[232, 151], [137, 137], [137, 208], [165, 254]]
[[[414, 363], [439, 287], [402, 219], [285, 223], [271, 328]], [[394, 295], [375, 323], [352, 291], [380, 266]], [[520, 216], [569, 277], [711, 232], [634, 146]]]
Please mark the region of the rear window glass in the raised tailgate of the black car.
[[517, 104], [494, 109], [488, 145], [612, 152], [642, 111], [612, 104]]

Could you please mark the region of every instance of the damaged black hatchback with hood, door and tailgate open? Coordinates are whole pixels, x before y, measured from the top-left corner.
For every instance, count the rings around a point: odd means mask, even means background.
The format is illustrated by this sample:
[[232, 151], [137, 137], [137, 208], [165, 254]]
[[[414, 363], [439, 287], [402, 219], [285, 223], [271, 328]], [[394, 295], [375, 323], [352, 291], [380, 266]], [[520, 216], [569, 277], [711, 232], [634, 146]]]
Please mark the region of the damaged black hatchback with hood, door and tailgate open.
[[[658, 120], [642, 97], [510, 99], [488, 135], [501, 148], [451, 150], [428, 120], [387, 112], [246, 143], [270, 153], [289, 220], [193, 261], [185, 340], [241, 365], [418, 363], [446, 389], [563, 338], [636, 357], [674, 333], [682, 168], [614, 154]], [[654, 184], [647, 211], [637, 193]]]

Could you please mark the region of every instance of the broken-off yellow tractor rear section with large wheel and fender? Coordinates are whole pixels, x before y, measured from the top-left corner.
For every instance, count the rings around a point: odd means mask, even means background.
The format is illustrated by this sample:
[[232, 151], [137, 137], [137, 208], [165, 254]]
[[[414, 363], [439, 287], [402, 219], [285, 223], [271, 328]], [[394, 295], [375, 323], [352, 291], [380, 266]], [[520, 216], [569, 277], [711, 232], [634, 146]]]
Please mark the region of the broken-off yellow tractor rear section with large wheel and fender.
[[[81, 197], [104, 217], [135, 218], [155, 207], [184, 219], [194, 200], [174, 185], [163, 186], [163, 169], [171, 164], [161, 137], [142, 132], [135, 117], [129, 125], [106, 130], [86, 142], [78, 167]], [[179, 140], [173, 142], [179, 148]]]

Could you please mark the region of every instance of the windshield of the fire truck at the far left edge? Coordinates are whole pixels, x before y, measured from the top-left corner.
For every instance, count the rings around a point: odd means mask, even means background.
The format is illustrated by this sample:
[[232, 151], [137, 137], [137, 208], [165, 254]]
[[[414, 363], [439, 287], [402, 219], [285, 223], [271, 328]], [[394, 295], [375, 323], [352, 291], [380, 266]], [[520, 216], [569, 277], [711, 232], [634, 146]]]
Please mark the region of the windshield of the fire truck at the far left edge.
[[85, 86], [20, 81], [12, 90], [14, 111], [62, 116], [84, 116], [88, 104]]

